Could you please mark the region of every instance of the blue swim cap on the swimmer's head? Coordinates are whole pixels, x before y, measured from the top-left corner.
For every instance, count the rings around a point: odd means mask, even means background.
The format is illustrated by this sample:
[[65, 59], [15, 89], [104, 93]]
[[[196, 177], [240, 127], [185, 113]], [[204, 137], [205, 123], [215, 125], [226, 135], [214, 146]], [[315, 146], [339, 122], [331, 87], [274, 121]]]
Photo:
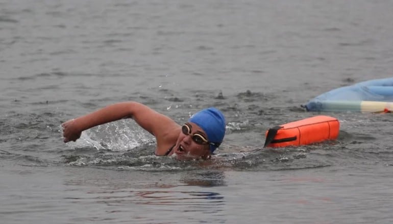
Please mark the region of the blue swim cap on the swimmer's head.
[[217, 145], [210, 145], [210, 152], [223, 142], [225, 135], [225, 118], [223, 113], [214, 107], [203, 109], [194, 114], [189, 120], [202, 128], [205, 131], [209, 142]]

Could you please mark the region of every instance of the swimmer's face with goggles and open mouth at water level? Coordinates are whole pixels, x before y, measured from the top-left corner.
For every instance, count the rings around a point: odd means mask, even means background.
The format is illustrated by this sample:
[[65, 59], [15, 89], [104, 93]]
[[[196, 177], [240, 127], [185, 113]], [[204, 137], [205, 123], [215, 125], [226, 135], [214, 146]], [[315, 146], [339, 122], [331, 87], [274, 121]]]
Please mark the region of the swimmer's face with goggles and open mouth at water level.
[[207, 159], [210, 145], [206, 133], [198, 125], [188, 122], [184, 124], [174, 147], [178, 159]]

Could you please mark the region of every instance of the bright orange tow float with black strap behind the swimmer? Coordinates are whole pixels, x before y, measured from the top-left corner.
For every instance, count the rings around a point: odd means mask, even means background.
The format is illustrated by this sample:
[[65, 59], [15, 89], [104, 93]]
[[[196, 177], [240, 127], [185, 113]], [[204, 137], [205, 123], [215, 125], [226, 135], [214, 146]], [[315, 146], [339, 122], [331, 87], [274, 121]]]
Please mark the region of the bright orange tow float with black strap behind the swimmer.
[[264, 147], [309, 145], [338, 137], [340, 123], [329, 116], [315, 116], [275, 126], [266, 131]]

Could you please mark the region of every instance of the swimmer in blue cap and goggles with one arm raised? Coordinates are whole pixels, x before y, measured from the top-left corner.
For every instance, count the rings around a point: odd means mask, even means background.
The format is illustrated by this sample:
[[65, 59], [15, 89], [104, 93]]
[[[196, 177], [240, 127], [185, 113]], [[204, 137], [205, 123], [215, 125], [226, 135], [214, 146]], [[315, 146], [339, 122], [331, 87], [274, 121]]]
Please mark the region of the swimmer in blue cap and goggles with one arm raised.
[[62, 124], [64, 142], [77, 141], [84, 130], [131, 118], [156, 138], [156, 155], [176, 154], [178, 159], [208, 159], [223, 142], [225, 118], [218, 109], [206, 108], [179, 125], [169, 117], [138, 102], [120, 102]]

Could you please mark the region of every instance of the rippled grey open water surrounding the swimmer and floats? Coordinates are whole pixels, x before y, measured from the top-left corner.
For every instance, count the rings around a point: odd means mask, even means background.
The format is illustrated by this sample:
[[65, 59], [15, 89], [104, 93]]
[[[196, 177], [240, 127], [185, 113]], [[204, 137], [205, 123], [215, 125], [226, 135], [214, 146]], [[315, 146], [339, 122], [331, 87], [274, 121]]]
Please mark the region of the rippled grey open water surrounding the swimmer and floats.
[[[323, 92], [392, 76], [391, 1], [0, 1], [2, 223], [390, 223], [389, 114], [325, 114], [337, 141], [263, 149]], [[211, 161], [153, 155], [135, 100], [227, 118]]]

